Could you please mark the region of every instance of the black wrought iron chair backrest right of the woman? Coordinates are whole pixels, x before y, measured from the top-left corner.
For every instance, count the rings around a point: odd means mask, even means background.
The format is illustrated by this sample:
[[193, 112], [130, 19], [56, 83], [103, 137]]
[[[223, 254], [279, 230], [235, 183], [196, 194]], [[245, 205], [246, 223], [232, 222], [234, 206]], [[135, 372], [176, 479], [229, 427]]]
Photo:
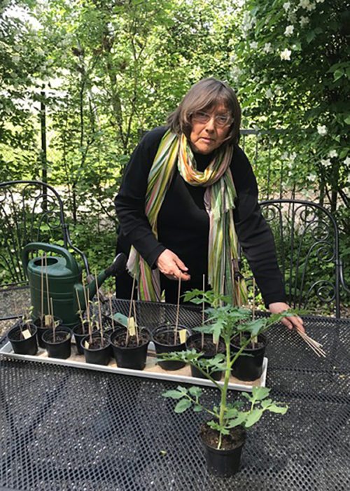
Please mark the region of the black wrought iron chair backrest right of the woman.
[[340, 317], [339, 232], [327, 209], [303, 200], [260, 202], [272, 229], [277, 258], [292, 307]]

